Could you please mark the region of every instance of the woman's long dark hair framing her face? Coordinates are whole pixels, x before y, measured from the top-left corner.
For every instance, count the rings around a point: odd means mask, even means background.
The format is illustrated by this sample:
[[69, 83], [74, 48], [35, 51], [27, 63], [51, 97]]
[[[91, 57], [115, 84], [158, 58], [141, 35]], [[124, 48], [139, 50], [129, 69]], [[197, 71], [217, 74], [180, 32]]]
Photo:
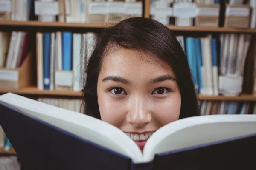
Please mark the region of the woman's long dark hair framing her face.
[[105, 28], [100, 34], [85, 70], [86, 83], [82, 90], [84, 114], [101, 119], [97, 102], [97, 81], [104, 55], [115, 46], [136, 49], [170, 65], [180, 88], [179, 119], [199, 116], [195, 85], [183, 48], [166, 26], [143, 17], [123, 20]]

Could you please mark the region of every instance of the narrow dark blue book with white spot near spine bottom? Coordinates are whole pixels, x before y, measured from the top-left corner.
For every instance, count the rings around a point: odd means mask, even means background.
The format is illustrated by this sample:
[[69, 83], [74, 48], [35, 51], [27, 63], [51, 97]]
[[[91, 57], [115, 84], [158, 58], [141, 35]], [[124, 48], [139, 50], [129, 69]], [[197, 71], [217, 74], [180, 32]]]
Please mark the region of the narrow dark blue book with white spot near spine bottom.
[[44, 33], [44, 90], [50, 89], [51, 34]]

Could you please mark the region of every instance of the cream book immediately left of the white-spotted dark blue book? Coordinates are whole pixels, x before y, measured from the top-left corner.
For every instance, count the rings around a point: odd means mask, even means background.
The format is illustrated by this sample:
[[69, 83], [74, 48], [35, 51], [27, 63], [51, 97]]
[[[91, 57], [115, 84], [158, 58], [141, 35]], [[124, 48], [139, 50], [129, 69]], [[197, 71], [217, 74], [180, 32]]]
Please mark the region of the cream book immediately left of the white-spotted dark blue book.
[[37, 88], [38, 90], [44, 90], [44, 57], [43, 57], [43, 34], [41, 32], [36, 33], [36, 65], [37, 65]]

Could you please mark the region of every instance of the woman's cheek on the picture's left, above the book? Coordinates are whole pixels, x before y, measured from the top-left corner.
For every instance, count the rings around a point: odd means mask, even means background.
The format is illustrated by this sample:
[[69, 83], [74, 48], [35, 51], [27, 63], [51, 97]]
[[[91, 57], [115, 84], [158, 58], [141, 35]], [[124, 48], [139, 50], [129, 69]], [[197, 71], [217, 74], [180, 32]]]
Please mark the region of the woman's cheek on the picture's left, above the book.
[[111, 98], [109, 94], [105, 92], [99, 92], [98, 105], [102, 121], [108, 122], [116, 127], [121, 127], [126, 119], [122, 102]]

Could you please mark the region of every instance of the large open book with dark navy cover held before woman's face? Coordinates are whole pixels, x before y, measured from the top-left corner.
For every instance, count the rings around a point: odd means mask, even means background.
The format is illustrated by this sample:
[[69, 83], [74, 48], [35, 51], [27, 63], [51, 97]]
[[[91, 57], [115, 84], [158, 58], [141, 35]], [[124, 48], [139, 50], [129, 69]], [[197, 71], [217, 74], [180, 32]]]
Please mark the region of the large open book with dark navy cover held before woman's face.
[[256, 115], [171, 122], [148, 138], [143, 154], [113, 125], [12, 93], [0, 96], [0, 125], [28, 170], [245, 167], [256, 153]]

